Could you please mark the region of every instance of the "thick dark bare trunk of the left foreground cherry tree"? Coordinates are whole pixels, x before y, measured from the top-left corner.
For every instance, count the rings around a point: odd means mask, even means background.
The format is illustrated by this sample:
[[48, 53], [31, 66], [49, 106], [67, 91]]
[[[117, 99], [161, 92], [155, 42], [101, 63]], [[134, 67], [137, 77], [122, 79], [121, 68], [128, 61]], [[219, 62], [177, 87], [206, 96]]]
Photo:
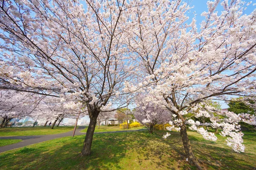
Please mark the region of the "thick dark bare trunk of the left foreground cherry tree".
[[88, 156], [91, 153], [93, 133], [96, 127], [98, 115], [99, 115], [99, 111], [95, 111], [93, 114], [90, 115], [90, 123], [87, 128], [86, 136], [84, 139], [84, 147], [83, 147], [83, 150], [81, 151], [81, 156]]

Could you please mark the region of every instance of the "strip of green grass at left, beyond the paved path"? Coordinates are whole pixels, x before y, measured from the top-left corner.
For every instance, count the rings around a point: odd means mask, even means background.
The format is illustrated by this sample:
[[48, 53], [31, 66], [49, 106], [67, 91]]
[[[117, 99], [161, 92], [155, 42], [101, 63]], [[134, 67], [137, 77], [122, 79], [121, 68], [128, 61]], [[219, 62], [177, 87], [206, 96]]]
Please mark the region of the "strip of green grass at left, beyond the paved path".
[[6, 127], [0, 129], [0, 136], [32, 136], [32, 135], [52, 135], [65, 133], [73, 130], [72, 126], [54, 127]]

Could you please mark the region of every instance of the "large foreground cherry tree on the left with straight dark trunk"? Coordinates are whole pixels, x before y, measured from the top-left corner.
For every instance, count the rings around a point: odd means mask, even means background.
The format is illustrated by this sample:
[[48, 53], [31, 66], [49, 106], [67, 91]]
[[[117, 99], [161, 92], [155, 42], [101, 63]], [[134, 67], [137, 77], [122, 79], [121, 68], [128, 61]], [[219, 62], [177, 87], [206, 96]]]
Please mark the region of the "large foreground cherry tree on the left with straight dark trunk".
[[1, 1], [0, 88], [82, 102], [90, 117], [87, 156], [100, 111], [126, 103], [121, 89], [135, 66], [123, 41], [134, 4], [79, 2]]

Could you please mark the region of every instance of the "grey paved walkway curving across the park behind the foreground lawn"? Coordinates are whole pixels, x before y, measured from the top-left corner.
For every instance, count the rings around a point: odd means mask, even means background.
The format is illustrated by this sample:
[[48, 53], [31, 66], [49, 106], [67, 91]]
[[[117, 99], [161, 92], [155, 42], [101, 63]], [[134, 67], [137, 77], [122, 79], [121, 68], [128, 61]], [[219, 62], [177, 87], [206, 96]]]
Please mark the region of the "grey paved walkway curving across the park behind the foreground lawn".
[[[76, 133], [75, 135], [85, 135], [85, 133], [79, 132], [80, 130], [83, 130], [85, 127], [84, 126], [79, 126], [76, 129]], [[120, 133], [120, 132], [134, 132], [134, 131], [141, 131], [141, 130], [145, 130], [145, 129], [139, 129], [139, 130], [122, 130], [122, 131], [112, 131], [112, 132], [95, 132], [95, 133]], [[24, 147], [24, 146], [28, 146], [31, 144], [36, 144], [39, 142], [44, 142], [44, 141], [48, 141], [48, 140], [52, 140], [52, 139], [56, 139], [56, 138], [61, 138], [61, 137], [66, 137], [66, 136], [72, 136], [73, 134], [73, 130], [66, 132], [66, 133], [59, 133], [59, 134], [55, 134], [55, 135], [37, 135], [37, 136], [3, 136], [0, 137], [0, 139], [22, 139], [22, 142], [18, 142], [15, 144], [9, 144], [6, 146], [2, 146], [0, 147], [0, 153], [5, 152], [7, 150], [12, 150], [12, 149], [16, 149], [19, 147]]]

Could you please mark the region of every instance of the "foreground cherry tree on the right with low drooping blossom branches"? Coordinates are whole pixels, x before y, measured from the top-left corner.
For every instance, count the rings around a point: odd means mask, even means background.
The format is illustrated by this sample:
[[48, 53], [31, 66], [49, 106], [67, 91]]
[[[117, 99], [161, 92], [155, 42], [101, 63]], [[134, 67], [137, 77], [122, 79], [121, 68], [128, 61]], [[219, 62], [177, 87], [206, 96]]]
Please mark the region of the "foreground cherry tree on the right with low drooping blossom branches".
[[[202, 108], [195, 116], [204, 115], [212, 126], [223, 126], [222, 135], [230, 136], [227, 144], [242, 152], [242, 133], [237, 132], [239, 116], [219, 112], [227, 118], [218, 122], [201, 104], [204, 99], [255, 96], [256, 10], [244, 14], [250, 3], [241, 0], [208, 1], [208, 11], [201, 14], [205, 20], [197, 26], [195, 18], [188, 23], [190, 7], [180, 0], [145, 0], [138, 4], [131, 9], [134, 28], [128, 34], [129, 49], [134, 53], [131, 57], [138, 63], [136, 79], [126, 82], [125, 91], [148, 93], [151, 98], [145, 102], [154, 101], [169, 109], [173, 115], [170, 124], [180, 130], [186, 158], [198, 168], [186, 122], [205, 139], [215, 141], [216, 137], [198, 128], [200, 122], [194, 124], [184, 117], [195, 108]], [[222, 11], [216, 11], [217, 6]]]

